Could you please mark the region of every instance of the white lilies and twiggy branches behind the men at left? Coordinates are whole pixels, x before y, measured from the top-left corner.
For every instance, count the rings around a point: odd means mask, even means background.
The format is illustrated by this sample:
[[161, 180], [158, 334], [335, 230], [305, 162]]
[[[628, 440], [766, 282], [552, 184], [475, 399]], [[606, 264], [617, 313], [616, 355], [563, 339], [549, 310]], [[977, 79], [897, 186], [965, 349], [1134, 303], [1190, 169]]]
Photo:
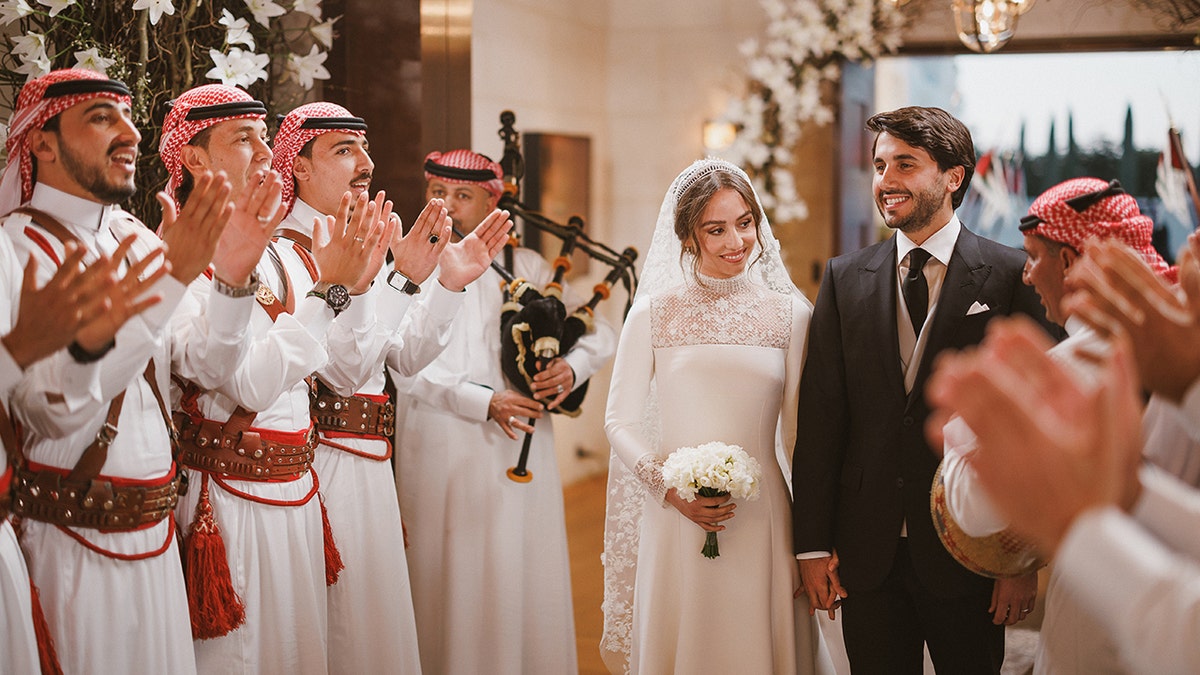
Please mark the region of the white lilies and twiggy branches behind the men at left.
[[0, 26], [7, 26], [0, 120], [7, 121], [25, 82], [53, 68], [83, 67], [125, 82], [144, 137], [131, 207], [156, 214], [154, 195], [166, 173], [152, 149], [166, 102], [220, 82], [247, 89], [269, 113], [286, 113], [330, 78], [325, 59], [338, 18], [323, 17], [322, 0], [0, 0]]

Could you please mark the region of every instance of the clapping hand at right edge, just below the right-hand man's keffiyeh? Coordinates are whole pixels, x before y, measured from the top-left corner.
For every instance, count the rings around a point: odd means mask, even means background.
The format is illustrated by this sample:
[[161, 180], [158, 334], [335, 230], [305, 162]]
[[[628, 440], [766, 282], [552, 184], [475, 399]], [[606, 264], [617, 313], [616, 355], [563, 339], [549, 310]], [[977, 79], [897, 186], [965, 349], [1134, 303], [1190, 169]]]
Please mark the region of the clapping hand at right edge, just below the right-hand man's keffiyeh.
[[1064, 309], [1103, 338], [1127, 333], [1142, 387], [1176, 402], [1200, 377], [1198, 253], [1200, 237], [1192, 234], [1180, 256], [1183, 293], [1154, 274], [1139, 253], [1111, 240], [1088, 246], [1067, 276], [1072, 293]]

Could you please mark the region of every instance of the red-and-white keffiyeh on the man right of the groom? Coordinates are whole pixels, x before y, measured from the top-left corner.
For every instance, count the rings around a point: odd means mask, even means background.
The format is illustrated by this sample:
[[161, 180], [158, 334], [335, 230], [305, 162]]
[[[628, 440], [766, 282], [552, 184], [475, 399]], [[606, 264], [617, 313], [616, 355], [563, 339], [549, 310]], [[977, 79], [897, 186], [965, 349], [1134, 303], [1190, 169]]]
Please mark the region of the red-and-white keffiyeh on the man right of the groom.
[[1159, 275], [1174, 282], [1177, 274], [1151, 243], [1154, 222], [1138, 210], [1138, 201], [1116, 180], [1073, 178], [1055, 185], [1030, 205], [1030, 214], [1021, 219], [1021, 232], [1079, 252], [1091, 239], [1116, 239], [1141, 253]]

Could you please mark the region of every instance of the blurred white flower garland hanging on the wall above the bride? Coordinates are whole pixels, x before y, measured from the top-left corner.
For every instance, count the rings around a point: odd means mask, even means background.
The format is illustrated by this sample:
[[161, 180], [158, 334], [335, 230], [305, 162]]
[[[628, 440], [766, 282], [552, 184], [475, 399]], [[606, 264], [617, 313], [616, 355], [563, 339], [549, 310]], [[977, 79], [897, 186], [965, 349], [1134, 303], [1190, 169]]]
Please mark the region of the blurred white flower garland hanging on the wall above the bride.
[[904, 16], [886, 0], [761, 0], [767, 35], [742, 46], [749, 85], [718, 121], [737, 129], [721, 151], [754, 180], [763, 208], [780, 222], [808, 217], [796, 192], [792, 150], [805, 123], [834, 119], [822, 97], [841, 60], [871, 61], [900, 47]]

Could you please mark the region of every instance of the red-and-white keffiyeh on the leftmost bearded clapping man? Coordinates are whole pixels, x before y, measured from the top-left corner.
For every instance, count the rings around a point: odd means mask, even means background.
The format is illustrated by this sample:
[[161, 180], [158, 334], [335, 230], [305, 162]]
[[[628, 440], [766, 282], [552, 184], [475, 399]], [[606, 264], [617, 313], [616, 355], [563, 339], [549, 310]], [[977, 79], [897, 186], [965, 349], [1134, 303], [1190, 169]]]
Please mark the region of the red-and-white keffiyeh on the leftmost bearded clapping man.
[[34, 156], [29, 132], [42, 129], [52, 118], [89, 98], [131, 102], [125, 84], [83, 68], [52, 71], [20, 88], [17, 107], [8, 120], [8, 165], [0, 178], [0, 214], [24, 204], [34, 196]]

